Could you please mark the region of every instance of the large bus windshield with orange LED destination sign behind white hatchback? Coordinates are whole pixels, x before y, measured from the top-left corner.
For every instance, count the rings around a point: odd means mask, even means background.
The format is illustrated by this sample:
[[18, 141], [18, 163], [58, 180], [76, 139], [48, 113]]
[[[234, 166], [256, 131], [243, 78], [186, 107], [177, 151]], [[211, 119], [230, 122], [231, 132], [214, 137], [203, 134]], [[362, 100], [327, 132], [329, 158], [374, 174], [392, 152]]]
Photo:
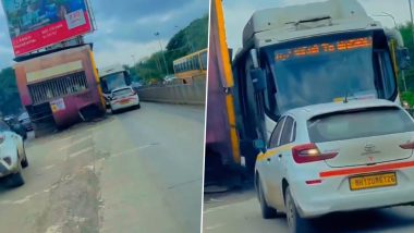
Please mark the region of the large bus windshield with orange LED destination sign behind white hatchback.
[[278, 114], [344, 97], [391, 99], [397, 88], [391, 59], [374, 41], [373, 33], [364, 33], [268, 48], [273, 88], [267, 106]]

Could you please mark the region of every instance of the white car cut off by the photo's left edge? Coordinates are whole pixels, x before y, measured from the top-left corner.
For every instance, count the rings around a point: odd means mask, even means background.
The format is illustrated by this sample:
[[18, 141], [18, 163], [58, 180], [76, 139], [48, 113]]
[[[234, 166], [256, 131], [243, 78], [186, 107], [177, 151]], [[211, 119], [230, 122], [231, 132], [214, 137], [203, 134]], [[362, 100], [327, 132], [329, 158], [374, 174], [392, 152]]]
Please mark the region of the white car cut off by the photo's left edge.
[[13, 187], [24, 184], [22, 170], [28, 167], [23, 138], [0, 121], [0, 177]]

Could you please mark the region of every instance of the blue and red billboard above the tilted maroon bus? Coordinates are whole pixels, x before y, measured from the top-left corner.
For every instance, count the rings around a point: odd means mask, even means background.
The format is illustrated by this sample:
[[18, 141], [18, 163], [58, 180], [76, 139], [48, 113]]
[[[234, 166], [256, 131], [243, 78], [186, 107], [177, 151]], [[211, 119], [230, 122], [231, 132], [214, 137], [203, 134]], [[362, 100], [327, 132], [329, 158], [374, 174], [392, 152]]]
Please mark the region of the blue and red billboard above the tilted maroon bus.
[[85, 0], [2, 0], [2, 3], [16, 57], [93, 30]]

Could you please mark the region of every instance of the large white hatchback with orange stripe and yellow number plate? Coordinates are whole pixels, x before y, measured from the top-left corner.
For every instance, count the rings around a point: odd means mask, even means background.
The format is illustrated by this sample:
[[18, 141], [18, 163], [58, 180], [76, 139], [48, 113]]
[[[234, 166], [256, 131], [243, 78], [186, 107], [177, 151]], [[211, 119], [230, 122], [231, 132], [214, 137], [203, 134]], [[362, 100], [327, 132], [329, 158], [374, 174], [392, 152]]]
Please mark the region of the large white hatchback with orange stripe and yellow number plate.
[[414, 121], [393, 102], [291, 110], [255, 146], [263, 217], [287, 213], [290, 232], [327, 213], [414, 204]]

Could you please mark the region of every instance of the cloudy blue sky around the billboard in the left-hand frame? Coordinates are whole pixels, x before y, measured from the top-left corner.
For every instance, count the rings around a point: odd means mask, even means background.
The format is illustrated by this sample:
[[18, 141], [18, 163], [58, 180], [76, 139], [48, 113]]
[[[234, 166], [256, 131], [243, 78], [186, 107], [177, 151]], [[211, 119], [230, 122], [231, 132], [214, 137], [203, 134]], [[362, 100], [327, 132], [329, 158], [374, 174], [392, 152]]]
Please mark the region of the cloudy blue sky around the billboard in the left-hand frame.
[[[208, 13], [208, 0], [89, 0], [97, 30], [86, 36], [94, 42], [98, 68], [132, 64], [159, 51], [193, 20]], [[0, 69], [13, 64], [13, 50], [0, 4]]]

